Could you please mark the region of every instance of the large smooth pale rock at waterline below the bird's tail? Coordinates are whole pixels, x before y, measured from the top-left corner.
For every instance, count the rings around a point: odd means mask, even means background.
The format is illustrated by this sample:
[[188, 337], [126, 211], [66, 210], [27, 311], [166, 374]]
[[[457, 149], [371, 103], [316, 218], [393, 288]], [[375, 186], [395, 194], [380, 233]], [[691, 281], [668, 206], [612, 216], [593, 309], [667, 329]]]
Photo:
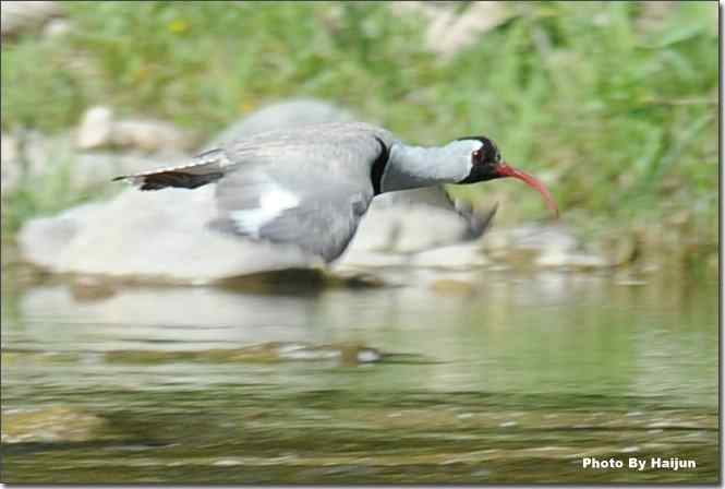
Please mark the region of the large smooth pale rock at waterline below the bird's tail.
[[17, 236], [21, 254], [56, 273], [193, 284], [316, 263], [292, 247], [209, 229], [213, 193], [129, 189], [110, 202], [31, 219]]

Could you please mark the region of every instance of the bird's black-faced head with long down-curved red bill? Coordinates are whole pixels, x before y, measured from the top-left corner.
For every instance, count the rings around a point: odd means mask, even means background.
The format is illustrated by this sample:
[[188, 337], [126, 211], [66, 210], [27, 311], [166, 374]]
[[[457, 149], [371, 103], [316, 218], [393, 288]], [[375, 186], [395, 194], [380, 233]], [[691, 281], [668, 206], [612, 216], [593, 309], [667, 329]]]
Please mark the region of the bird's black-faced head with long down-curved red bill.
[[449, 146], [457, 148], [457, 153], [460, 153], [460, 160], [468, 168], [466, 178], [457, 183], [476, 183], [507, 177], [518, 178], [529, 187], [536, 189], [544, 198], [546, 206], [558, 217], [559, 208], [548, 189], [531, 175], [513, 168], [502, 159], [498, 147], [491, 139], [485, 136], [461, 138], [450, 143]]

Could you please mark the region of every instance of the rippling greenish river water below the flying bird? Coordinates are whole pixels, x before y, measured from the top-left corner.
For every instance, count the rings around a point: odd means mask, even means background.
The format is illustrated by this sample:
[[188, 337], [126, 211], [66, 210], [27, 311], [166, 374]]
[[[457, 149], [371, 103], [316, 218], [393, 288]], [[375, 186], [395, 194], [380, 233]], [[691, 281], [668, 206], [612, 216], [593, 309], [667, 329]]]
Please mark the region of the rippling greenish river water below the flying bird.
[[713, 277], [390, 271], [396, 287], [240, 289], [23, 273], [3, 273], [5, 482], [718, 477]]

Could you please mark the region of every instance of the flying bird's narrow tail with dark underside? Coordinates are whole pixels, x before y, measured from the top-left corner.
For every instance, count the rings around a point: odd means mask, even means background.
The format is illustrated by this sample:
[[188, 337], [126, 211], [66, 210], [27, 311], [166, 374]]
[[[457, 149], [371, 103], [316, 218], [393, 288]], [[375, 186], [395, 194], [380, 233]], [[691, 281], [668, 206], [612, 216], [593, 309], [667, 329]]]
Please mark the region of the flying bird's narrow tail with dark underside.
[[160, 168], [135, 175], [122, 175], [116, 180], [128, 180], [141, 190], [159, 190], [166, 187], [195, 189], [225, 176], [230, 165], [221, 150], [212, 150], [194, 157], [191, 164]]

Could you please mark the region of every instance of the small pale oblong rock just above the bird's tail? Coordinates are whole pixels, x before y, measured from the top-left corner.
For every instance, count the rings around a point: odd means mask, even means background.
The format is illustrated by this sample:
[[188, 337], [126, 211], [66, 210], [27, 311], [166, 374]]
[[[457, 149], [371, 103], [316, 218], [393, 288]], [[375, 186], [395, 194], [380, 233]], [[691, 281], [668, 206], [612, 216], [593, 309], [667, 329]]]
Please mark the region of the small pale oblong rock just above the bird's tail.
[[116, 119], [108, 107], [93, 107], [83, 116], [76, 134], [76, 146], [92, 150], [120, 146], [141, 150], [183, 151], [194, 146], [194, 138], [169, 122], [152, 119]]

